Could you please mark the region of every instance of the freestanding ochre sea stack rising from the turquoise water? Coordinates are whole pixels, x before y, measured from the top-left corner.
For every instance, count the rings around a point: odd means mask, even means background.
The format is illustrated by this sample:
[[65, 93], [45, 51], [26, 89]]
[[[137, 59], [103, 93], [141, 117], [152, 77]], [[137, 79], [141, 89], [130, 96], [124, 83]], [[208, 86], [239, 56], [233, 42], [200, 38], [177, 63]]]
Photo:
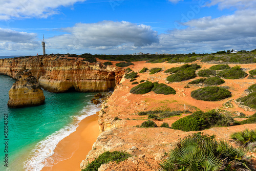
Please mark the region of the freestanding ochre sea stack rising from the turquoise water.
[[45, 102], [44, 92], [30, 71], [19, 71], [15, 78], [17, 81], [9, 91], [8, 106], [10, 108], [41, 105]]

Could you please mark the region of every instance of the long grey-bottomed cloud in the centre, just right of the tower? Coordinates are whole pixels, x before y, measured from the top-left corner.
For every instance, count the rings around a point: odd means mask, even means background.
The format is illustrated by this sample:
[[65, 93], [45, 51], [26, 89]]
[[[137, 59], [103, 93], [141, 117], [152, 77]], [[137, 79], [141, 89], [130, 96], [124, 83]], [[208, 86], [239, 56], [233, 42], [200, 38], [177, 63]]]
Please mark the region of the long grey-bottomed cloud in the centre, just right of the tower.
[[92, 24], [76, 24], [74, 27], [63, 28], [68, 32], [47, 39], [49, 48], [108, 49], [124, 44], [133, 46], [148, 46], [158, 42], [157, 32], [150, 26], [136, 25], [129, 22], [103, 21]]

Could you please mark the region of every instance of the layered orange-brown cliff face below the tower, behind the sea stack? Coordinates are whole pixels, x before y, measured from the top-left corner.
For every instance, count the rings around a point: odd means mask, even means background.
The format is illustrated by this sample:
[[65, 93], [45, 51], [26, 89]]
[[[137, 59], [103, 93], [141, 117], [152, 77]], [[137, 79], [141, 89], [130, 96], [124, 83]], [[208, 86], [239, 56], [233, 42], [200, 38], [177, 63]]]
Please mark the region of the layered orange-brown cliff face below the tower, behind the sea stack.
[[39, 86], [50, 92], [102, 92], [115, 88], [123, 69], [89, 63], [79, 58], [59, 56], [32, 56], [0, 59], [0, 74], [12, 78], [22, 70], [30, 70]]

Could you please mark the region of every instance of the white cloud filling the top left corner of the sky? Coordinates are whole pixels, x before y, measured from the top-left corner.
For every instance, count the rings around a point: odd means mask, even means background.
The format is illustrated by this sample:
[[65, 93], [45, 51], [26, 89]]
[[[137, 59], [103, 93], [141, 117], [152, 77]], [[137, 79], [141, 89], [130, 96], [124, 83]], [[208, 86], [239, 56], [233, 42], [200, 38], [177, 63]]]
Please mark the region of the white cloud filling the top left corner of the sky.
[[86, 0], [0, 0], [0, 19], [42, 17], [57, 14], [60, 6], [70, 6]]

